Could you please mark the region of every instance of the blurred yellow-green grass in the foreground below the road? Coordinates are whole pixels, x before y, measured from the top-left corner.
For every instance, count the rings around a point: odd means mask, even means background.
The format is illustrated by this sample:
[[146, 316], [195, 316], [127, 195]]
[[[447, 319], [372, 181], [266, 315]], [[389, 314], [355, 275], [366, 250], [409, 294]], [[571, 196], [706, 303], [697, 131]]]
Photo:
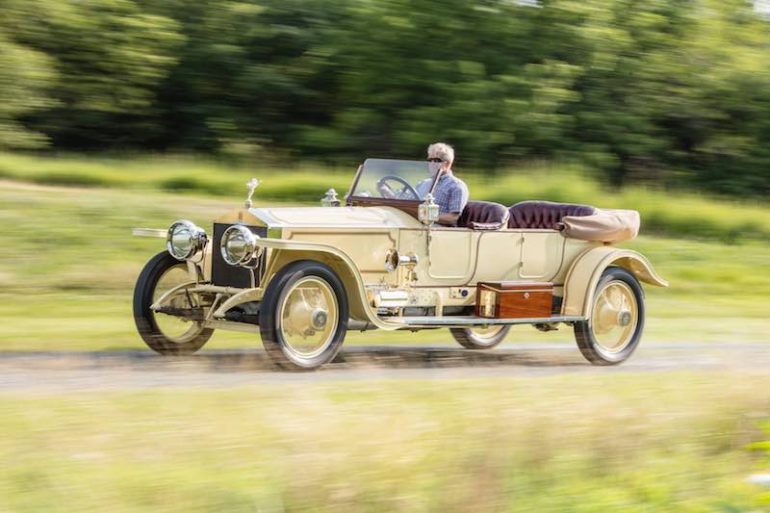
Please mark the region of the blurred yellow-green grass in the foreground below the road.
[[766, 460], [745, 448], [768, 389], [592, 374], [6, 394], [0, 510], [759, 512], [746, 478]]

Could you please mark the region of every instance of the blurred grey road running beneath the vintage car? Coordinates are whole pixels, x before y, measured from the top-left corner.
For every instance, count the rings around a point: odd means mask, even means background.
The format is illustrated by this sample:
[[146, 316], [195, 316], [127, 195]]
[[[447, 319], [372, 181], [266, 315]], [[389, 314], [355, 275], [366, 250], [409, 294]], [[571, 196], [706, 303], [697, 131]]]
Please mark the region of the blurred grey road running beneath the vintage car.
[[260, 383], [375, 379], [458, 379], [566, 373], [770, 372], [770, 343], [642, 345], [617, 367], [593, 367], [574, 344], [507, 344], [491, 351], [452, 346], [345, 349], [317, 372], [276, 371], [264, 352], [202, 351], [162, 357], [149, 351], [0, 353], [0, 392], [228, 388]]

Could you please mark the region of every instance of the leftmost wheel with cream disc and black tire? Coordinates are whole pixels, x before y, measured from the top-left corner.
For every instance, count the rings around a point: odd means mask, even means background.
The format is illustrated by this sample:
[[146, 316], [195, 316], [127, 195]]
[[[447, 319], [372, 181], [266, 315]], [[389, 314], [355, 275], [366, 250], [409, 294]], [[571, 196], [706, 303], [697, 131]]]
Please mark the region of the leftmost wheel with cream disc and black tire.
[[[189, 282], [187, 263], [180, 262], [168, 252], [158, 253], [142, 269], [134, 288], [134, 322], [139, 336], [153, 351], [160, 354], [191, 354], [208, 342], [214, 330], [203, 323], [153, 312], [150, 306], [172, 288]], [[170, 299], [170, 305], [189, 310], [193, 298], [180, 291]]]

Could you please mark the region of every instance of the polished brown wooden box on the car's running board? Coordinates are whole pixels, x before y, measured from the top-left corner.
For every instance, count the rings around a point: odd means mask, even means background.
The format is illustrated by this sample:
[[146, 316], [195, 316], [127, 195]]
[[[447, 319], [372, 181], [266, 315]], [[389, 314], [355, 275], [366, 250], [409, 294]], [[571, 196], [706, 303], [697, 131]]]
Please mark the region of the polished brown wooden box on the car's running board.
[[551, 317], [553, 283], [479, 282], [476, 285], [476, 316], [492, 319], [540, 319]]

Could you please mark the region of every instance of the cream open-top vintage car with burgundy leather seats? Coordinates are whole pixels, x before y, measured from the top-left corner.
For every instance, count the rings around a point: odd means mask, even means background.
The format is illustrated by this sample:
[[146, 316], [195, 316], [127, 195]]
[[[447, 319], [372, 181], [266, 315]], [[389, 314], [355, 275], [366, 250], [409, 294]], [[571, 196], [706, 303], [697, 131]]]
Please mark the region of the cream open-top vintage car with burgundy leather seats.
[[348, 330], [448, 328], [468, 349], [514, 324], [572, 326], [598, 365], [626, 360], [644, 327], [639, 282], [667, 286], [645, 257], [613, 242], [636, 235], [634, 211], [470, 201], [439, 226], [426, 162], [368, 159], [345, 196], [319, 207], [252, 205], [137, 235], [166, 237], [134, 292], [142, 339], [162, 354], [200, 349], [216, 329], [259, 333], [272, 360], [314, 369]]

